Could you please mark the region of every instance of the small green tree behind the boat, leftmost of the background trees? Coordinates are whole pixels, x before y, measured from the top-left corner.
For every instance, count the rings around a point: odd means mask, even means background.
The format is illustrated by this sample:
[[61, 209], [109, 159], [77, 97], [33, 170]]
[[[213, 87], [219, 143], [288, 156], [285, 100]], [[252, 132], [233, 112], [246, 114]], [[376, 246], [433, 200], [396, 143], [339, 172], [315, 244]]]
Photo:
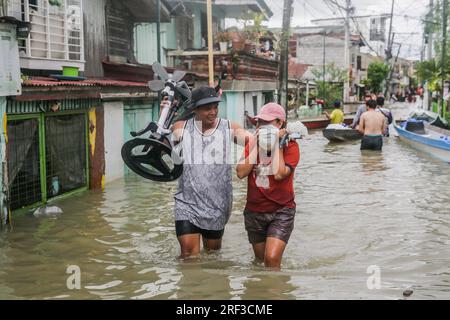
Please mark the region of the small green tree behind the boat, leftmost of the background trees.
[[[317, 85], [317, 97], [325, 101], [326, 107], [331, 107], [336, 100], [342, 101], [343, 84], [347, 81], [347, 72], [331, 62], [322, 68], [312, 69]], [[324, 81], [325, 80], [325, 81]]]

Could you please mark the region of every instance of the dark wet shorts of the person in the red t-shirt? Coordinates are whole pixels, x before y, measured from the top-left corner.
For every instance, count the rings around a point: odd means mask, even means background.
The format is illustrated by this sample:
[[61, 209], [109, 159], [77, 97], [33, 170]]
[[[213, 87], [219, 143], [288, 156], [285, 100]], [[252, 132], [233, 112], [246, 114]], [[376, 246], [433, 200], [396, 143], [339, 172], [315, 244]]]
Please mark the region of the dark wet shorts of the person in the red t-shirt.
[[267, 237], [288, 242], [294, 229], [295, 208], [281, 208], [271, 213], [244, 210], [245, 230], [251, 244], [266, 242]]

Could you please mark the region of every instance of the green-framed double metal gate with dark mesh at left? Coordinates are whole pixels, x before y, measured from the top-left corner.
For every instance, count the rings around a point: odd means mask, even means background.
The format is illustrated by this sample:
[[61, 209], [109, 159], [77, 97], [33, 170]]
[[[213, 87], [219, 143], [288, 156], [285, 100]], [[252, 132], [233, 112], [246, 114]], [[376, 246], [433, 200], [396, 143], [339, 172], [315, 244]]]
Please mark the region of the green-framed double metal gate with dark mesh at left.
[[85, 111], [9, 115], [7, 130], [12, 210], [87, 189]]

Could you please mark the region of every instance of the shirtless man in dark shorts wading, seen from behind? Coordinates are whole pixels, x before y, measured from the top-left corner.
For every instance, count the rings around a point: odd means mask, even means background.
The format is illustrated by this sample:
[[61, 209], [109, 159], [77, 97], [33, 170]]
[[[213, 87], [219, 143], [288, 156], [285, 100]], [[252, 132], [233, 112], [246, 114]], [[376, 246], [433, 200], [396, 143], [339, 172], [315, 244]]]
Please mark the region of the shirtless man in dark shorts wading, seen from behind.
[[361, 116], [359, 132], [364, 134], [361, 150], [380, 150], [383, 148], [383, 132], [386, 130], [385, 116], [376, 112], [377, 102], [367, 101], [368, 111]]

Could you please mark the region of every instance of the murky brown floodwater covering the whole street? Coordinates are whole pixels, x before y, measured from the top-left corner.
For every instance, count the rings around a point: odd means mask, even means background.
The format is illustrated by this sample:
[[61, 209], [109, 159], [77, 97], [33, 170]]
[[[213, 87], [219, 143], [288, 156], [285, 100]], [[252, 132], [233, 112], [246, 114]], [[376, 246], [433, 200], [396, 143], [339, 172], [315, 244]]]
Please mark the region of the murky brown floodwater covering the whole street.
[[[17, 217], [0, 231], [0, 298], [400, 299], [412, 288], [411, 299], [449, 299], [450, 166], [393, 136], [381, 154], [329, 144], [320, 131], [300, 145], [282, 271], [253, 261], [244, 182], [235, 181], [223, 250], [180, 261], [176, 183], [130, 177], [57, 203], [56, 219]], [[70, 265], [80, 290], [67, 288]], [[380, 289], [367, 287], [369, 266]]]

